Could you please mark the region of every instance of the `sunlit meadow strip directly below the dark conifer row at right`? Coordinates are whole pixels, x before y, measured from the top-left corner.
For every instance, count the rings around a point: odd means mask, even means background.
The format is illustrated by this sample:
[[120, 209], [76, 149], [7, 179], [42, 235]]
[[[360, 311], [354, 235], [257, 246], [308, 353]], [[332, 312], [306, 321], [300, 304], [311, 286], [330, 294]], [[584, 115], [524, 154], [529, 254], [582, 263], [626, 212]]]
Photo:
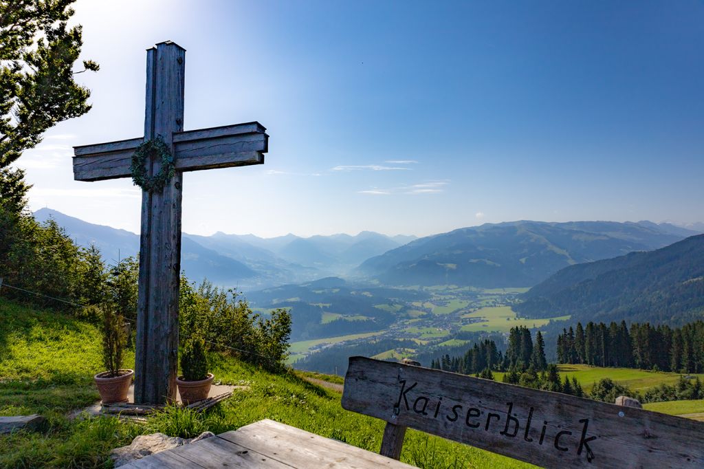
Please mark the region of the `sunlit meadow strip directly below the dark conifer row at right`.
[[[676, 384], [679, 380], [677, 373], [653, 372], [635, 370], [634, 368], [601, 368], [589, 365], [558, 365], [560, 375], [566, 374], [572, 379], [576, 377], [579, 384], [587, 392], [591, 391], [593, 384], [604, 377], [609, 377], [615, 382], [625, 384], [633, 391], [646, 392], [651, 387], [659, 384]], [[704, 374], [697, 375], [704, 380]]]

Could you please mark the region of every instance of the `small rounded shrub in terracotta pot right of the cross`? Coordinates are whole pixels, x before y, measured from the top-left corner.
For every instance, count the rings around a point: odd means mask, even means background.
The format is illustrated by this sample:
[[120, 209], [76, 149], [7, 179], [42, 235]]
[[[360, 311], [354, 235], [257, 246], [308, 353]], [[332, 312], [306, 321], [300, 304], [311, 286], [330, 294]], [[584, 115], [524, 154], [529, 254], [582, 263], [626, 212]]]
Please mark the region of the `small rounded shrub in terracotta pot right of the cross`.
[[181, 352], [181, 373], [176, 378], [181, 401], [188, 405], [191, 402], [206, 399], [213, 382], [213, 373], [208, 373], [208, 357], [203, 339], [194, 337], [184, 344]]

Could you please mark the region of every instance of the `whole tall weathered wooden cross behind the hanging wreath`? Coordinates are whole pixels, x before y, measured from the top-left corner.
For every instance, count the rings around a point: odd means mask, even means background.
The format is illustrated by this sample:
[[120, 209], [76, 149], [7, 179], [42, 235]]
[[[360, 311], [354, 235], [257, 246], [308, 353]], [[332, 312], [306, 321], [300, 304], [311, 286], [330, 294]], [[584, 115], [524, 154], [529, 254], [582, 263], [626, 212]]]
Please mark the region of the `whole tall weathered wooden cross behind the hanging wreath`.
[[[181, 196], [184, 171], [264, 163], [268, 135], [260, 123], [183, 131], [186, 50], [161, 42], [146, 51], [144, 137], [76, 146], [73, 176], [79, 181], [130, 177], [139, 144], [161, 138], [175, 159], [175, 175], [163, 191], [142, 191], [139, 301], [134, 402], [176, 399], [178, 300], [181, 270]], [[149, 177], [161, 168], [147, 159]]]

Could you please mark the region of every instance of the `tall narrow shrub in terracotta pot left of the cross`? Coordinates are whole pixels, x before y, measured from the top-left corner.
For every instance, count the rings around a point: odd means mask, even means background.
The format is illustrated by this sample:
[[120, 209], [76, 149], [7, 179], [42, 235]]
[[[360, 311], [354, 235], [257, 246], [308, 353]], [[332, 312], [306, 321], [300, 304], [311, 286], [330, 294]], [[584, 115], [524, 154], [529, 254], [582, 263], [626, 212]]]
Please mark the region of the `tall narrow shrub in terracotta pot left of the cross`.
[[127, 337], [122, 327], [122, 316], [110, 305], [103, 305], [103, 365], [107, 371], [94, 376], [103, 404], [127, 402], [127, 392], [132, 384], [134, 370], [120, 368], [122, 351], [125, 350]]

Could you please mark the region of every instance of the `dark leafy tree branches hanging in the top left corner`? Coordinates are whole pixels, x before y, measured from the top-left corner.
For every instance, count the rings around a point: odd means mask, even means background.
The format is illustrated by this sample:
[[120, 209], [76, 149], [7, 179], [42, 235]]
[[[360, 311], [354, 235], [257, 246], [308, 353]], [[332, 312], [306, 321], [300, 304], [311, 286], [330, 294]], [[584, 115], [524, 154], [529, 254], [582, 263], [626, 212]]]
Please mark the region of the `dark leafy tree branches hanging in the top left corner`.
[[74, 80], [83, 42], [81, 26], [67, 23], [73, 1], [0, 1], [0, 200], [15, 213], [29, 187], [10, 165], [46, 130], [90, 109], [89, 90]]

